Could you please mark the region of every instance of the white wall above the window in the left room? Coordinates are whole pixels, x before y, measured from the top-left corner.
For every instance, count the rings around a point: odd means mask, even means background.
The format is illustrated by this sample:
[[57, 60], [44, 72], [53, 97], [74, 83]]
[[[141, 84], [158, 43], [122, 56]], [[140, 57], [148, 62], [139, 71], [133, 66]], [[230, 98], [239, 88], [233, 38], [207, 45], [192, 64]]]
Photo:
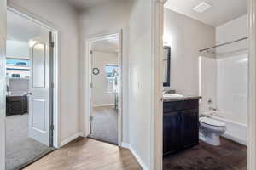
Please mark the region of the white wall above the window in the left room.
[[20, 42], [15, 40], [7, 40], [6, 56], [9, 58], [29, 59], [28, 42]]

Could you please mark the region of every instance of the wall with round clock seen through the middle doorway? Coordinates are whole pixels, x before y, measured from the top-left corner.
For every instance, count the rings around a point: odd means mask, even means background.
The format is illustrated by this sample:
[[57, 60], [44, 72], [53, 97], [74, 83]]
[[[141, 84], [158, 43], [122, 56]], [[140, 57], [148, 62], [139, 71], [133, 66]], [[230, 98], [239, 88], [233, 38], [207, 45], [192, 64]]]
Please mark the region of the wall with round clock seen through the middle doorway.
[[93, 105], [108, 105], [114, 104], [114, 94], [108, 94], [108, 83], [106, 78], [106, 65], [118, 65], [118, 54], [108, 52], [93, 53], [93, 67], [98, 68], [100, 73], [92, 76], [93, 90], [92, 102]]

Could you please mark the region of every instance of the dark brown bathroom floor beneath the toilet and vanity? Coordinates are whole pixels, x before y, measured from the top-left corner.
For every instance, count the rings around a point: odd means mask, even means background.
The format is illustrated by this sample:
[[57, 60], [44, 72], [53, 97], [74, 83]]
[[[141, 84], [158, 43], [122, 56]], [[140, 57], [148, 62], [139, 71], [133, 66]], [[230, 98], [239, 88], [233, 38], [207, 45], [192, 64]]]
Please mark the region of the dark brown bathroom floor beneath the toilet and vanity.
[[216, 147], [200, 141], [198, 146], [164, 158], [164, 170], [246, 170], [247, 147], [221, 139]]

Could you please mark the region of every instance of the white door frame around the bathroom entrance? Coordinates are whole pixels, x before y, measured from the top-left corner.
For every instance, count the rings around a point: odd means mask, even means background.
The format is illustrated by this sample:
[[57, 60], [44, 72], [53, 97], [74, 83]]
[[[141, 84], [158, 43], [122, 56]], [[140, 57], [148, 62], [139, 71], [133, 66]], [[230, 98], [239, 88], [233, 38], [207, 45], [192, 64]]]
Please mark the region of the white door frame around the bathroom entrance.
[[[172, 1], [172, 0], [169, 0]], [[154, 64], [154, 116], [152, 122], [152, 144], [151, 144], [151, 168], [162, 169], [162, 109], [160, 102], [160, 87], [162, 83], [161, 73], [156, 67], [160, 67], [163, 51], [163, 26], [164, 26], [164, 3], [166, 0], [152, 0], [153, 2], [153, 59]], [[249, 58], [249, 90], [248, 90], [248, 122], [247, 122], [247, 170], [256, 169], [256, 0], [247, 0], [248, 4], [248, 58]]]

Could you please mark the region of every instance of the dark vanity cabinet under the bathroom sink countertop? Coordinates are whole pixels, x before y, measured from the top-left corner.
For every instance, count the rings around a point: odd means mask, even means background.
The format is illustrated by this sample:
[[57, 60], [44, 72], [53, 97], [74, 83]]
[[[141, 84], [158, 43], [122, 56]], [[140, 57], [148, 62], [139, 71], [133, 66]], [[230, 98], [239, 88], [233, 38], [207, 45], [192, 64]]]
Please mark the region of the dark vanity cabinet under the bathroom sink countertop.
[[199, 144], [199, 99], [164, 102], [163, 155]]

